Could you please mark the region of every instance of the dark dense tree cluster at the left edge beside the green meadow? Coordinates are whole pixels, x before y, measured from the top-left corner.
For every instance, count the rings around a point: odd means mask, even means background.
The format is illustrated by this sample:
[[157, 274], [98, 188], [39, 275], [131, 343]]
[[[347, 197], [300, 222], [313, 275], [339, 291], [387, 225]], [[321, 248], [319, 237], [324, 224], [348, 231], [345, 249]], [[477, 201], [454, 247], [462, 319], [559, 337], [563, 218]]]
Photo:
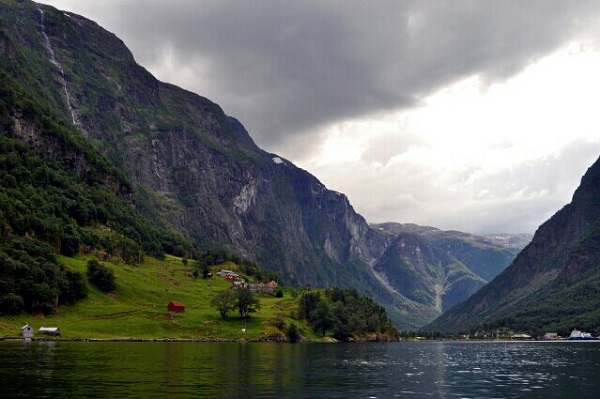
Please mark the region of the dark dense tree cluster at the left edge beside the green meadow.
[[58, 263], [53, 248], [31, 238], [0, 241], [0, 314], [49, 314], [88, 294], [81, 273]]

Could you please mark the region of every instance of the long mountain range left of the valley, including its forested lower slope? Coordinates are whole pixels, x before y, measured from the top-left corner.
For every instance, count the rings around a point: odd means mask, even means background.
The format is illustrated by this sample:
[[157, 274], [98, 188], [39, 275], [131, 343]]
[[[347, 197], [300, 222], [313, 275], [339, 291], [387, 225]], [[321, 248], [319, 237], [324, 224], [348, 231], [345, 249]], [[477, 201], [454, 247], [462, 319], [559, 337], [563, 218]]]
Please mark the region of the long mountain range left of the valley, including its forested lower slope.
[[[158, 81], [86, 18], [0, 0], [0, 55], [0, 122], [16, 162], [3, 172], [19, 185], [5, 193], [6, 236], [133, 263], [142, 253], [194, 258], [221, 248], [294, 286], [356, 288], [406, 328], [468, 297], [499, 259], [510, 262], [498, 245], [494, 261], [469, 255], [483, 245], [474, 241], [444, 255], [414, 232], [372, 228], [345, 195], [257, 147], [209, 99]], [[23, 194], [31, 189], [39, 201]], [[407, 260], [408, 242], [427, 253], [423, 262]], [[397, 269], [408, 264], [406, 280]], [[433, 294], [422, 288], [430, 284]]]

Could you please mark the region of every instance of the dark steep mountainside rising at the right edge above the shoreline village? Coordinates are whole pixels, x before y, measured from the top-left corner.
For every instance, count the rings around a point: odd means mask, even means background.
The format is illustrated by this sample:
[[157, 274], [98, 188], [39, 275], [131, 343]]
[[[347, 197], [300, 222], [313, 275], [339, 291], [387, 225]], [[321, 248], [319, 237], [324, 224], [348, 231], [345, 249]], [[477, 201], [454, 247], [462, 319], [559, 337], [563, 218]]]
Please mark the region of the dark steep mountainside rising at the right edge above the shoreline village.
[[531, 332], [600, 332], [600, 160], [571, 203], [488, 285], [427, 326], [459, 331], [508, 327]]

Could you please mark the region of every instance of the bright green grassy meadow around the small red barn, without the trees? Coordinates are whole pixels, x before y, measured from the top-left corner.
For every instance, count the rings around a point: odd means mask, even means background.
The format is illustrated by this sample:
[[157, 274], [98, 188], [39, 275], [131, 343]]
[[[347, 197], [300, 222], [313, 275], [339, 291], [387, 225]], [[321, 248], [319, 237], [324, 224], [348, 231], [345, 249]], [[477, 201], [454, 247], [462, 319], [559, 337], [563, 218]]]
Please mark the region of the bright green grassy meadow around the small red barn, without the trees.
[[[62, 257], [61, 262], [85, 274], [88, 259]], [[74, 306], [59, 307], [55, 315], [0, 317], [0, 336], [18, 336], [21, 327], [29, 323], [36, 332], [40, 326], [58, 326], [62, 338], [244, 338], [244, 323], [237, 313], [223, 320], [210, 307], [213, 295], [230, 287], [226, 280], [194, 279], [191, 268], [184, 267], [175, 257], [165, 261], [147, 257], [140, 266], [106, 265], [115, 272], [114, 293], [105, 294], [89, 285], [88, 298]], [[278, 315], [286, 325], [293, 321], [301, 327], [301, 322], [290, 317], [297, 309], [297, 301], [290, 293], [286, 292], [283, 298], [259, 295], [259, 299], [262, 308], [245, 325], [247, 339], [277, 333], [273, 320]], [[168, 320], [166, 305], [172, 300], [185, 303], [186, 311]], [[302, 334], [314, 337], [308, 328], [302, 328]]]

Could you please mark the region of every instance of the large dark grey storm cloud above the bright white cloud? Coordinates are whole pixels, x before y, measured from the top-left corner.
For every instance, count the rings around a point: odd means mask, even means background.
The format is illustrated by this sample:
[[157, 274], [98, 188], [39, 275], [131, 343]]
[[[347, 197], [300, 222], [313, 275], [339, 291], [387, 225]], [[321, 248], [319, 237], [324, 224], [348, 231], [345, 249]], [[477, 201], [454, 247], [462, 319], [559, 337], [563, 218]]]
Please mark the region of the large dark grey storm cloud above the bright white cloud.
[[598, 6], [120, 0], [89, 7], [143, 65], [160, 68], [168, 53], [202, 70], [191, 88], [240, 118], [259, 143], [278, 147], [287, 135], [333, 121], [414, 106], [472, 74], [508, 77], [564, 44]]

